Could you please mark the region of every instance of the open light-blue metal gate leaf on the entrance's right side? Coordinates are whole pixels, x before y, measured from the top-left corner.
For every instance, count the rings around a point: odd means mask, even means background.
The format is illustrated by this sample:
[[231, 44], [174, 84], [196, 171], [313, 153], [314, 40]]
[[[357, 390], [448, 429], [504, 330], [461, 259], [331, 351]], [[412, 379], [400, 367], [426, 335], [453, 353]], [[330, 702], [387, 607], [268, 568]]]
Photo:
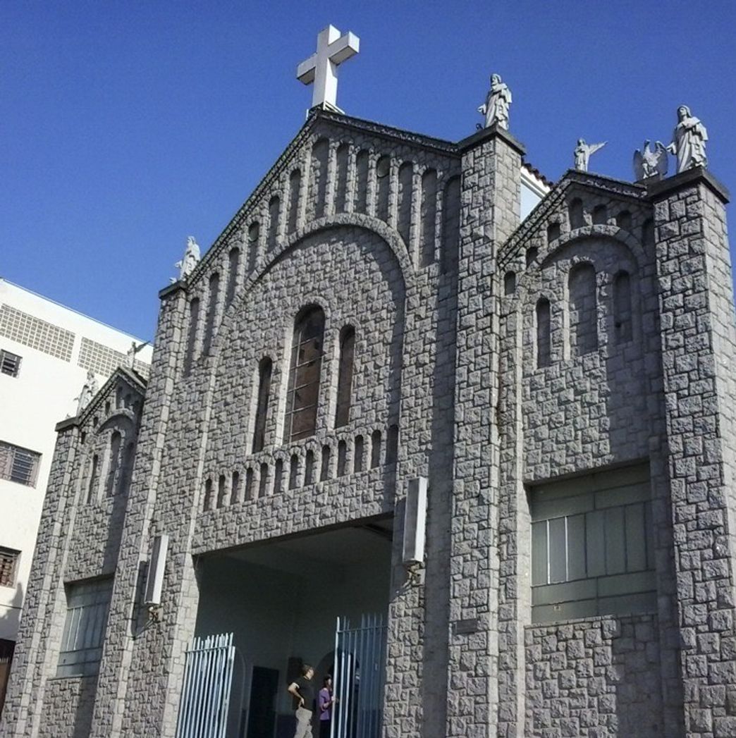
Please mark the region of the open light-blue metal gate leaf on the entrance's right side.
[[379, 738], [385, 660], [383, 615], [362, 615], [357, 628], [337, 618], [331, 738]]

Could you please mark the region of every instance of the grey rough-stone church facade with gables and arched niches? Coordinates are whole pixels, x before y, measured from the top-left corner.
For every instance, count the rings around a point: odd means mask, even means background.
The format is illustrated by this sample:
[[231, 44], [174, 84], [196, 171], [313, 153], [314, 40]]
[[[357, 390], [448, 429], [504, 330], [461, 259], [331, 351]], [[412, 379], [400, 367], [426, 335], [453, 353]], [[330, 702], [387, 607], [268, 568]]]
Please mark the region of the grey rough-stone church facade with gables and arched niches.
[[[147, 386], [121, 371], [59, 427], [2, 735], [173, 737], [202, 562], [358, 526], [391, 538], [387, 738], [736, 734], [727, 195], [700, 169], [654, 184], [571, 171], [520, 222], [524, 155], [499, 128], [455, 144], [310, 114], [162, 291]], [[316, 418], [294, 439], [309, 306], [324, 315]], [[134, 463], [91, 497], [113, 432], [136, 438]], [[416, 477], [419, 573], [402, 565]], [[100, 578], [97, 673], [60, 676], [71, 593]]]

